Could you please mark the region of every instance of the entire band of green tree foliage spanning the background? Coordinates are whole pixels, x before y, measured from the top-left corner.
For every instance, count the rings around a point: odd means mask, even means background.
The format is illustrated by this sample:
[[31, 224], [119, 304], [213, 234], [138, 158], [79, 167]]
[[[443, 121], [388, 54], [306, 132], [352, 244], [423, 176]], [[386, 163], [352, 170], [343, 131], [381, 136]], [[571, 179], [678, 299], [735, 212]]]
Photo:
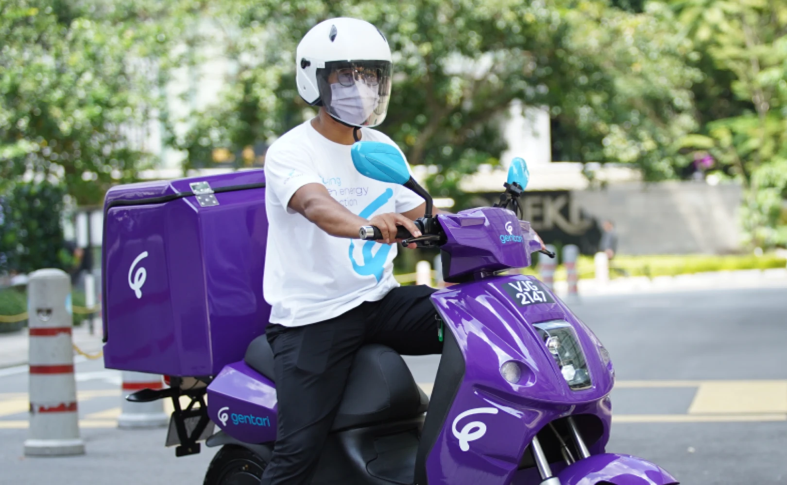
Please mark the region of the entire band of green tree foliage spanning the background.
[[[217, 153], [258, 164], [315, 114], [294, 88], [295, 46], [338, 16], [386, 33], [381, 129], [429, 167], [435, 195], [461, 205], [463, 176], [500, 163], [519, 100], [549, 107], [554, 160], [630, 164], [648, 180], [704, 160], [747, 187], [752, 242], [787, 243], [784, 0], [0, 0], [0, 193], [33, 179], [98, 204], [155, 163], [154, 130], [185, 169]], [[187, 80], [183, 100], [198, 101], [194, 72], [216, 57], [230, 65], [219, 101], [168, 112], [168, 82]]]

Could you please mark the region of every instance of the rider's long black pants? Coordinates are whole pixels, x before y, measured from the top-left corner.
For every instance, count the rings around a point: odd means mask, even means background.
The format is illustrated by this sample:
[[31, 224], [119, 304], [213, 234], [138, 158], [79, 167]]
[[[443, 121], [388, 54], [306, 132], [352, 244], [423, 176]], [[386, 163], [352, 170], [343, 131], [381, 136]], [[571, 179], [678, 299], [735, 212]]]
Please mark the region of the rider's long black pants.
[[393, 288], [385, 298], [302, 327], [268, 326], [278, 428], [265, 485], [309, 483], [342, 402], [350, 365], [364, 344], [404, 355], [442, 353], [427, 286]]

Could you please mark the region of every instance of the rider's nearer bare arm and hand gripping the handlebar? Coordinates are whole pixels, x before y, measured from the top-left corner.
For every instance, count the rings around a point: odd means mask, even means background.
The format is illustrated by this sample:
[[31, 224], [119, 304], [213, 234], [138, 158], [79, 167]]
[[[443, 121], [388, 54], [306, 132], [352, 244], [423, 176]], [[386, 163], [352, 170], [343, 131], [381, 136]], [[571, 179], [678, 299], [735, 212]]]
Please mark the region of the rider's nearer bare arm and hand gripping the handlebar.
[[388, 213], [366, 220], [353, 214], [334, 200], [321, 184], [306, 184], [297, 189], [288, 206], [335, 237], [357, 238], [361, 226], [379, 227], [382, 233], [380, 241], [386, 244], [397, 241], [396, 226], [405, 226], [413, 235], [420, 235], [412, 219], [405, 215]]

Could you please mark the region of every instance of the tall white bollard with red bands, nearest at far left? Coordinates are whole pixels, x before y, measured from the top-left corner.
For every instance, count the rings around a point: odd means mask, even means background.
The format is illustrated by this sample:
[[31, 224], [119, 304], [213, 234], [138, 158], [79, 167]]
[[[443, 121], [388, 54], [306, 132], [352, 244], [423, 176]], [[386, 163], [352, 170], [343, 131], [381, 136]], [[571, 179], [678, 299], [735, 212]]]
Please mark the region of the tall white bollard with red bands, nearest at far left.
[[24, 454], [84, 454], [71, 341], [71, 278], [65, 271], [38, 270], [30, 275], [28, 314], [30, 430]]

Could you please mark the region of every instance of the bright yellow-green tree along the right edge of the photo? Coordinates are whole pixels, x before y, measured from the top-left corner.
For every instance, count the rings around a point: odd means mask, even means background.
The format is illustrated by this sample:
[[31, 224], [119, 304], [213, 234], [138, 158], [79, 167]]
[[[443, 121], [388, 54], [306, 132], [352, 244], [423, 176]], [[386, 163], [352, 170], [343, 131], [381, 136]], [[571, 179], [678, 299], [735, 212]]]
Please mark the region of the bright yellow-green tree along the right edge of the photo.
[[[787, 3], [674, 2], [700, 53], [704, 124], [682, 145], [709, 152], [719, 175], [745, 186], [742, 222], [753, 244], [787, 243]], [[718, 100], [713, 94], [721, 94]], [[719, 108], [710, 108], [714, 101]]]

